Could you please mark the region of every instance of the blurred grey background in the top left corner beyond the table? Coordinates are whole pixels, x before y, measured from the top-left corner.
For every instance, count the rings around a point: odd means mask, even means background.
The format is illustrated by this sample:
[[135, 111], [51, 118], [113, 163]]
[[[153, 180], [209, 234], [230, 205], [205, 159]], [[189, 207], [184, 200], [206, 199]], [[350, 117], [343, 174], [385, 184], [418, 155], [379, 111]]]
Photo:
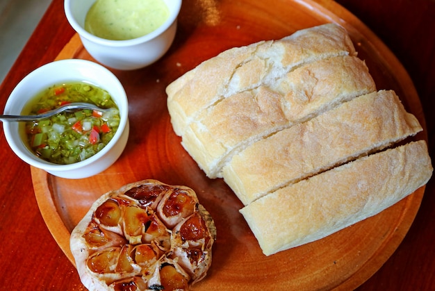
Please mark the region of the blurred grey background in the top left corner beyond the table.
[[0, 0], [0, 83], [50, 3], [51, 0]]

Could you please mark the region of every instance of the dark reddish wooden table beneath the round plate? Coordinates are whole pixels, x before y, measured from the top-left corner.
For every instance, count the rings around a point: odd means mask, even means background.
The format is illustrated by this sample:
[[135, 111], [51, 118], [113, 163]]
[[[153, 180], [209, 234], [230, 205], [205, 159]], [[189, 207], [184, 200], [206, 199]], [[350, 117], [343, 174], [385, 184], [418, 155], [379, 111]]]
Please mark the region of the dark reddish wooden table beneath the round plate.
[[[429, 150], [435, 150], [435, 1], [338, 0], [395, 53], [409, 72], [427, 121]], [[17, 62], [0, 85], [0, 109], [15, 85], [33, 69], [49, 63], [74, 35], [54, 0]], [[76, 269], [51, 237], [35, 201], [28, 165], [0, 135], [0, 284], [6, 290], [83, 290]], [[434, 290], [435, 183], [409, 233], [393, 256], [359, 290]]]

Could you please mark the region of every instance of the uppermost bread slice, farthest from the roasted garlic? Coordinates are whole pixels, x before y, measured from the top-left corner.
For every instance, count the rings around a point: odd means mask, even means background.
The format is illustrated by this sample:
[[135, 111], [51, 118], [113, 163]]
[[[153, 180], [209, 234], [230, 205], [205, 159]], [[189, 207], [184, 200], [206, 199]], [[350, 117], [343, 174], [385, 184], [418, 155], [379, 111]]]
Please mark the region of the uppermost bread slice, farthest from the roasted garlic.
[[337, 24], [224, 51], [167, 86], [174, 131], [183, 135], [199, 113], [226, 97], [270, 85], [306, 63], [344, 55], [356, 56], [356, 51], [345, 29]]

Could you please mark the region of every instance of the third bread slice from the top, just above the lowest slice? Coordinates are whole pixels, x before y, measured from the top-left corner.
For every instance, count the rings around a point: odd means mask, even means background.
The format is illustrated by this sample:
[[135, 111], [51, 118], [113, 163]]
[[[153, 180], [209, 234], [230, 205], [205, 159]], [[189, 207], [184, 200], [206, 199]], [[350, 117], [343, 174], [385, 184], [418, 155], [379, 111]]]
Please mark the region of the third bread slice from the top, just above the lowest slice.
[[247, 205], [419, 131], [418, 120], [395, 92], [381, 90], [252, 144], [224, 166], [223, 177]]

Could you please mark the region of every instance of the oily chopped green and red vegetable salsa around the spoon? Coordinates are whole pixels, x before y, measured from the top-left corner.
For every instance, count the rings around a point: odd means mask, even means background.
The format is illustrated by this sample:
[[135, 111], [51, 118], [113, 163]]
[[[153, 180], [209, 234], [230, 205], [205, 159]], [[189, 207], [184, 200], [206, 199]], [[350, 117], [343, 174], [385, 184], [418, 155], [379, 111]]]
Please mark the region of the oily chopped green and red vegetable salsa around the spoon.
[[[34, 103], [33, 103], [34, 102]], [[26, 122], [29, 147], [40, 158], [66, 165], [85, 160], [101, 151], [120, 125], [120, 112], [110, 94], [89, 83], [54, 85], [40, 92], [30, 105], [30, 114], [44, 113], [65, 103], [88, 102], [95, 110], [63, 112], [35, 122]]]

